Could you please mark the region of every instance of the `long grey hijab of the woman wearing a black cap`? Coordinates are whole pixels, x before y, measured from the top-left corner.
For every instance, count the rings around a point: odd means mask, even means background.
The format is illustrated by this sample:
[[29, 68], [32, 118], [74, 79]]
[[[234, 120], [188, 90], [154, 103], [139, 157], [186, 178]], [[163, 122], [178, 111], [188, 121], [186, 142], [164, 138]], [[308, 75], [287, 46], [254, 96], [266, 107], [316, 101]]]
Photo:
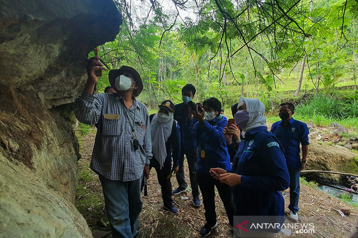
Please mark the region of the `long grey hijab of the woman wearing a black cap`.
[[[168, 111], [169, 112], [169, 111]], [[152, 153], [158, 163], [160, 169], [163, 168], [163, 164], [166, 158], [165, 143], [171, 134], [171, 127], [173, 126], [174, 113], [169, 112], [170, 120], [167, 122], [158, 121], [158, 113], [154, 115], [152, 122], [150, 123], [150, 132], [152, 136]]]

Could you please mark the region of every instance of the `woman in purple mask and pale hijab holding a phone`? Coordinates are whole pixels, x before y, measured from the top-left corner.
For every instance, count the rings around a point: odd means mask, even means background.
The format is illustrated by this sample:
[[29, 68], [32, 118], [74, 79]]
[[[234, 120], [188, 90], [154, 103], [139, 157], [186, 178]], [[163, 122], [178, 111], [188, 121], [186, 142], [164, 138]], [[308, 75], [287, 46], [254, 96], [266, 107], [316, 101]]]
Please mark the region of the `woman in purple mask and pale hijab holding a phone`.
[[[211, 175], [233, 186], [235, 216], [271, 216], [264, 223], [282, 224], [284, 198], [280, 191], [289, 187], [285, 156], [277, 138], [266, 127], [265, 106], [258, 99], [240, 97], [236, 125], [242, 128], [242, 141], [233, 156], [233, 169], [213, 168]], [[227, 129], [227, 128], [226, 128]], [[227, 138], [227, 137], [226, 137]], [[256, 217], [257, 218], [257, 217]], [[267, 219], [267, 218], [265, 218]], [[250, 225], [247, 224], [247, 228]], [[280, 227], [243, 231], [241, 237], [275, 237]]]

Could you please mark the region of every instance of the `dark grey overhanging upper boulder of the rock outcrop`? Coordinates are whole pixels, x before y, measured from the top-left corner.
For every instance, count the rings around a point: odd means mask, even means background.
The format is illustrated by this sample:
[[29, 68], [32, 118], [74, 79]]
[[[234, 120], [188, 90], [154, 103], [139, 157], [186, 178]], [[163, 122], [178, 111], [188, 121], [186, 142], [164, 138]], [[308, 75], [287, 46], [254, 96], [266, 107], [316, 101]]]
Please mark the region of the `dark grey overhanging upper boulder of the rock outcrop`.
[[48, 107], [73, 102], [86, 54], [115, 38], [112, 0], [0, 1], [0, 85], [31, 90]]

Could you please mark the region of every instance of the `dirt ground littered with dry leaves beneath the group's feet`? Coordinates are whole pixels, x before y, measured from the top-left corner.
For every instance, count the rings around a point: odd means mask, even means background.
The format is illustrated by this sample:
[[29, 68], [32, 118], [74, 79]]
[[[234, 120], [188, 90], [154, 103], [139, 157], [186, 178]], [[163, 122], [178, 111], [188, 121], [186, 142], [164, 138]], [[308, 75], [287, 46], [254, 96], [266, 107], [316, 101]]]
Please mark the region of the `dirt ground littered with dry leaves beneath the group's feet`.
[[[80, 148], [82, 158], [79, 160], [80, 172], [76, 207], [93, 231], [103, 231], [102, 235], [97, 237], [110, 237], [101, 184], [98, 176], [89, 169], [94, 136], [94, 133], [89, 133], [84, 137]], [[185, 172], [189, 182], [187, 167], [185, 167]], [[171, 178], [171, 181], [173, 188], [176, 188], [175, 176]], [[282, 194], [287, 206], [289, 191], [283, 191]], [[196, 208], [193, 206], [190, 189], [187, 192], [173, 196], [173, 199], [176, 208], [179, 210], [179, 213], [175, 215], [163, 210], [160, 186], [156, 178], [156, 172], [152, 169], [148, 180], [148, 196], [142, 197], [143, 210], [139, 218], [139, 235], [137, 237], [200, 237], [199, 230], [205, 223], [204, 207]], [[216, 206], [218, 227], [208, 237], [233, 237], [232, 229], [228, 226], [228, 220], [217, 192]], [[279, 233], [277, 237], [349, 237], [358, 221], [357, 208], [325, 194], [311, 184], [305, 185], [301, 183], [299, 207], [299, 222], [314, 223], [315, 233], [297, 235], [294, 232], [290, 236]], [[335, 210], [340, 208], [349, 208], [350, 215], [344, 218], [340, 216]], [[288, 213], [287, 208], [286, 212]]]

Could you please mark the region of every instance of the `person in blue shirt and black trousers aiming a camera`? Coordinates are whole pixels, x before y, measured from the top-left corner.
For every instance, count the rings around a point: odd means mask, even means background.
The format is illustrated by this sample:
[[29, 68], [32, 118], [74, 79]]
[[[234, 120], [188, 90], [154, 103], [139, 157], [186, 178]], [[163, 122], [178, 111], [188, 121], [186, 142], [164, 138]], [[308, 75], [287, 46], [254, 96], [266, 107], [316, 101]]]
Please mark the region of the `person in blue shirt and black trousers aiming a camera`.
[[[203, 102], [195, 111], [189, 109], [189, 118], [192, 115], [198, 120], [193, 130], [184, 128], [184, 137], [191, 137], [198, 143], [197, 179], [203, 196], [206, 224], [200, 229], [201, 236], [207, 236], [218, 223], [215, 212], [215, 187], [219, 192], [224, 204], [229, 224], [233, 224], [234, 202], [232, 188], [227, 184], [220, 183], [209, 174], [210, 168], [221, 168], [225, 171], [231, 170], [229, 154], [227, 152], [226, 140], [223, 129], [227, 124], [224, 117], [219, 117], [221, 103], [217, 98], [211, 97]], [[188, 138], [188, 137], [187, 137]]]

